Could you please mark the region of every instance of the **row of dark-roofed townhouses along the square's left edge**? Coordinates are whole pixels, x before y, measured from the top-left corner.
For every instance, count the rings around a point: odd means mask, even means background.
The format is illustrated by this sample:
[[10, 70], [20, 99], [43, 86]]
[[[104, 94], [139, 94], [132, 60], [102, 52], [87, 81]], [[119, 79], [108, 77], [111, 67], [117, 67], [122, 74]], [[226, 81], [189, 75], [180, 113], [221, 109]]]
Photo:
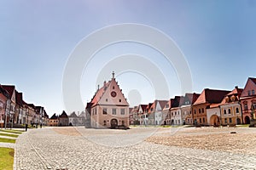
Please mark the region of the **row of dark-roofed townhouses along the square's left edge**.
[[47, 125], [49, 117], [42, 106], [27, 104], [23, 94], [14, 85], [0, 84], [0, 125], [19, 127], [20, 125]]

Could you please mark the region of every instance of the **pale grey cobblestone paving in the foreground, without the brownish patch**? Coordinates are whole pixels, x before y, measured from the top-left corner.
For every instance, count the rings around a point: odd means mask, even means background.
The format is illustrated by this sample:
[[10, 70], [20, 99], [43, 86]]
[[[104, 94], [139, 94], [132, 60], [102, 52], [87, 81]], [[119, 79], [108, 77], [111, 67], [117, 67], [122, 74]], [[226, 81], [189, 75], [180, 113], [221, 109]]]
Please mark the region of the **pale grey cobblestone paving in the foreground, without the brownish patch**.
[[[72, 128], [72, 127], [70, 127]], [[142, 140], [147, 129], [128, 131], [85, 129], [81, 135], [56, 133], [53, 128], [29, 130], [16, 140], [14, 169], [255, 169], [256, 156], [153, 144], [145, 141], [111, 147], [108, 140]], [[66, 129], [65, 129], [66, 130]], [[149, 133], [152, 129], [148, 128]], [[146, 133], [148, 135], [149, 133]], [[114, 137], [119, 136], [119, 140]], [[90, 137], [90, 138], [89, 138]], [[138, 139], [137, 139], [138, 138]], [[95, 139], [100, 139], [96, 140]], [[252, 146], [255, 147], [255, 146]]]

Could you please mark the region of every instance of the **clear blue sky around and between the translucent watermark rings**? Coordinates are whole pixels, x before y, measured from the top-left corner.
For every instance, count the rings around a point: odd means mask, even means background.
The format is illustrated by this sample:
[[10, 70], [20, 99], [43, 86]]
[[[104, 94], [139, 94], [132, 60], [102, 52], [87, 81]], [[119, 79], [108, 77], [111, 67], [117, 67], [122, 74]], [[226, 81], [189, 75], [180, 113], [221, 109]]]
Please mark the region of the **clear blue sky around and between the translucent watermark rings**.
[[[165, 32], [177, 43], [189, 63], [193, 91], [231, 90], [236, 85], [243, 88], [247, 77], [256, 77], [255, 18], [254, 0], [1, 1], [0, 83], [15, 84], [26, 102], [44, 105], [49, 115], [60, 114], [65, 109], [61, 91], [63, 71], [76, 45], [104, 26], [138, 23]], [[87, 71], [81, 77], [80, 89], [84, 104], [90, 101], [99, 83], [94, 74], [101, 67], [95, 67], [103, 56], [107, 56], [103, 59], [107, 62], [111, 54], [138, 51], [148, 55], [166, 75], [170, 98], [179, 95], [172, 65], [165, 65], [165, 60], [155, 57], [158, 54], [153, 55], [152, 49], [124, 43], [102, 50], [96, 62], [86, 68], [90, 74]], [[110, 78], [111, 73], [106, 80]], [[142, 103], [154, 99], [154, 89], [144, 88], [148, 82], [140, 75], [127, 73], [117, 79], [125, 97], [137, 89]]]

